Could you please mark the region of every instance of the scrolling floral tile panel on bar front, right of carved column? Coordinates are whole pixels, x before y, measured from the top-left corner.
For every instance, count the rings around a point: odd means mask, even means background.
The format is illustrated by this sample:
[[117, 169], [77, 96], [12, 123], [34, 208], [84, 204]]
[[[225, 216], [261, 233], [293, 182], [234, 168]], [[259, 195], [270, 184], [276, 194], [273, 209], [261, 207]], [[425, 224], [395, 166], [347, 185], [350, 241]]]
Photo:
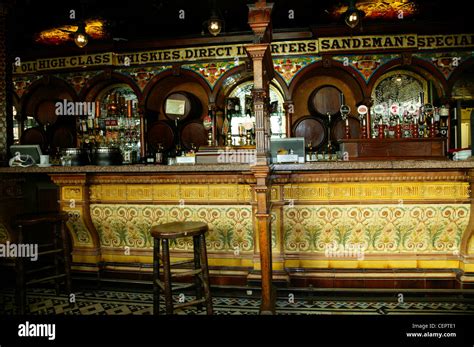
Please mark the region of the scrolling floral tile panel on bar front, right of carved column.
[[284, 247], [324, 252], [334, 244], [366, 253], [459, 251], [468, 205], [295, 206], [284, 208]]

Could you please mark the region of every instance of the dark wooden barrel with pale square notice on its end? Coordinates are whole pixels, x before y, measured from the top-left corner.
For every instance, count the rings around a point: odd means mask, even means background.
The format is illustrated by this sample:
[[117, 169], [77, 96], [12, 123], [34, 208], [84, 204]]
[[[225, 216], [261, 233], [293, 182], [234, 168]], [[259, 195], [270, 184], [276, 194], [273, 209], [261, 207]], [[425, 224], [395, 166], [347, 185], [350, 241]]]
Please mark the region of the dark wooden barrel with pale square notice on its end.
[[188, 92], [173, 92], [163, 102], [163, 112], [168, 119], [185, 120], [199, 118], [202, 105], [199, 99]]

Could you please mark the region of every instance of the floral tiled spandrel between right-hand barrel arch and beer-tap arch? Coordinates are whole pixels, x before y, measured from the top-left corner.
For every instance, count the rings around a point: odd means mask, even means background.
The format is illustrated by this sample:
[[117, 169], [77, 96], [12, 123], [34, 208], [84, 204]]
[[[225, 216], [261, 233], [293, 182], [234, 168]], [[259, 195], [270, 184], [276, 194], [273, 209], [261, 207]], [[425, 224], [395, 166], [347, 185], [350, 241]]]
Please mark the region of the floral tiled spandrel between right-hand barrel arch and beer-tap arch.
[[342, 63], [344, 66], [354, 68], [366, 82], [382, 65], [390, 60], [399, 58], [399, 55], [341, 55], [333, 57], [334, 60]]

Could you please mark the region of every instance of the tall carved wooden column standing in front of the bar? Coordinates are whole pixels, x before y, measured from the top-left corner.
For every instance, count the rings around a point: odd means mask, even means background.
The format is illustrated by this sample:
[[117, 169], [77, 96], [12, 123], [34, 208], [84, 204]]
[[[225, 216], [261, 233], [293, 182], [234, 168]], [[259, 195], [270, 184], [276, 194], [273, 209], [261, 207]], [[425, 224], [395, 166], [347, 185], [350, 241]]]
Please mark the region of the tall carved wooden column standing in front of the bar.
[[256, 178], [254, 186], [257, 206], [255, 212], [256, 232], [258, 233], [260, 251], [260, 273], [262, 281], [261, 314], [275, 313], [275, 295], [272, 284], [272, 247], [270, 224], [270, 114], [269, 85], [273, 78], [271, 59], [271, 11], [273, 4], [259, 1], [249, 6], [249, 25], [255, 36], [254, 44], [246, 47], [252, 61], [254, 88], [252, 90], [255, 114], [255, 143], [257, 162], [252, 166]]

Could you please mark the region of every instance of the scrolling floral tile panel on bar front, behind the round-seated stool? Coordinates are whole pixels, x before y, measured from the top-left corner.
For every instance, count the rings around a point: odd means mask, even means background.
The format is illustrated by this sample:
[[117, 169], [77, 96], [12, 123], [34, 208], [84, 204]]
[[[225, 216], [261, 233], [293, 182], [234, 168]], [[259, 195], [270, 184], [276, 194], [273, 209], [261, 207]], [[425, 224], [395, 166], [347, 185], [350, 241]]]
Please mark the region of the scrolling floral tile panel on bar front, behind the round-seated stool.
[[[209, 251], [252, 252], [250, 206], [91, 205], [91, 217], [105, 247], [153, 247], [152, 225], [172, 221], [203, 221], [209, 225]], [[171, 242], [174, 250], [192, 250], [191, 238]]]

